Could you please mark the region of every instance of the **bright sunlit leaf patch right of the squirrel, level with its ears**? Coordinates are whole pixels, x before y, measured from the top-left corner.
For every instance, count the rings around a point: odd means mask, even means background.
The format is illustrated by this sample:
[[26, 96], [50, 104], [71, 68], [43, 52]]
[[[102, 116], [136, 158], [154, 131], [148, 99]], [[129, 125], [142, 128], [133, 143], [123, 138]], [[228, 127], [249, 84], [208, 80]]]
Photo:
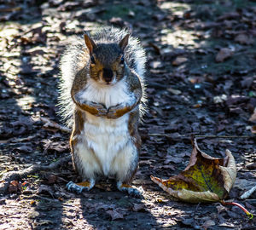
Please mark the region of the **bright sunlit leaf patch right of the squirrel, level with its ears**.
[[162, 44], [172, 45], [173, 48], [183, 48], [195, 49], [198, 43], [195, 42], [198, 37], [195, 36], [193, 31], [185, 31], [179, 28], [174, 29], [174, 32], [166, 32], [163, 30], [161, 32], [163, 36], [161, 37]]

